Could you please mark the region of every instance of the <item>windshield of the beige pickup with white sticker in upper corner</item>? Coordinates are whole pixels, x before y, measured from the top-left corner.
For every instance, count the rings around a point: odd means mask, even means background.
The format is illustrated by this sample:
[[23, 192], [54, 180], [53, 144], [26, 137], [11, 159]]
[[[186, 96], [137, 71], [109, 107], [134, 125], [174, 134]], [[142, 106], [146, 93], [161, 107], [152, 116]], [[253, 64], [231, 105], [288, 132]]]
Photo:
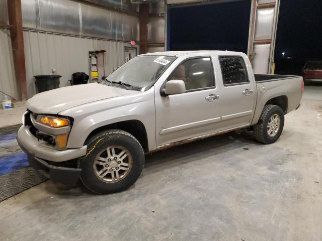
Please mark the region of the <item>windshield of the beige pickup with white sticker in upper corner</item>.
[[[137, 56], [123, 64], [101, 84], [145, 91], [166, 71], [175, 60], [170, 56]], [[125, 86], [124, 86], [125, 85]]]

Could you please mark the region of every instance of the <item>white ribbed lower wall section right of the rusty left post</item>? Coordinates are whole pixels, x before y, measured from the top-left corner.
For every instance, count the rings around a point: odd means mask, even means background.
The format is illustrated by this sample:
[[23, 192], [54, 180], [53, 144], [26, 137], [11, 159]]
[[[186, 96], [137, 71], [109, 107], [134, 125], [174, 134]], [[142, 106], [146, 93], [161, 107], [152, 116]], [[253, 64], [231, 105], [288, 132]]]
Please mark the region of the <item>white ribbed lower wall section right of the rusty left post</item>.
[[[69, 86], [74, 72], [89, 74], [89, 51], [105, 50], [105, 75], [121, 66], [124, 60], [124, 47], [129, 43], [93, 39], [85, 37], [24, 31], [27, 93], [28, 98], [36, 93], [34, 75], [62, 75], [60, 87]], [[135, 46], [136, 47], [136, 46]], [[99, 73], [103, 76], [103, 58], [99, 58]]]

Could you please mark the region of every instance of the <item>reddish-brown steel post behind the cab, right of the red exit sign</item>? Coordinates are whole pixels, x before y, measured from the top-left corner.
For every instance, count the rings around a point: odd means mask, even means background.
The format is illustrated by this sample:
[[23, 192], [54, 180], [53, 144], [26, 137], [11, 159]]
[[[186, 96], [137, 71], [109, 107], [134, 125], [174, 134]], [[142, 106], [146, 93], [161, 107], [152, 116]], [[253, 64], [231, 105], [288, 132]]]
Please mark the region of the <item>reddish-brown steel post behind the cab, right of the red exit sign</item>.
[[149, 22], [149, 4], [140, 4], [140, 54], [147, 52], [147, 26]]

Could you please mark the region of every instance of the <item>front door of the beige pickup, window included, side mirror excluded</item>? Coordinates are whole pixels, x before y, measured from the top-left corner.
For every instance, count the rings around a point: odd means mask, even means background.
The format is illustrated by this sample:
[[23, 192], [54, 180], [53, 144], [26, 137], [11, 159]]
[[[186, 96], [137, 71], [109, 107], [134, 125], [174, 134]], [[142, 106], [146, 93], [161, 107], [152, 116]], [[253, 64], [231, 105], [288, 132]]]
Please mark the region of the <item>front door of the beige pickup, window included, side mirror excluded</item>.
[[[186, 92], [169, 96], [155, 93], [156, 145], [186, 140], [215, 132], [219, 95], [211, 56], [186, 58], [169, 75], [183, 80]], [[165, 82], [166, 83], [166, 82]]]

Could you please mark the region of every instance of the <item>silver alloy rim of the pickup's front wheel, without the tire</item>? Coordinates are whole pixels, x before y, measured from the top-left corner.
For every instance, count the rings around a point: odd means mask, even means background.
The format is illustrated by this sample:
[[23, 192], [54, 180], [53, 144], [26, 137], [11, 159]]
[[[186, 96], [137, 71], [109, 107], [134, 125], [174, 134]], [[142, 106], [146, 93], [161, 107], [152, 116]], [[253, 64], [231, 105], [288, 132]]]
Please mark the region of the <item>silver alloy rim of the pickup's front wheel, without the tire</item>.
[[103, 149], [94, 160], [95, 175], [103, 182], [113, 183], [125, 178], [132, 167], [130, 152], [120, 146]]

